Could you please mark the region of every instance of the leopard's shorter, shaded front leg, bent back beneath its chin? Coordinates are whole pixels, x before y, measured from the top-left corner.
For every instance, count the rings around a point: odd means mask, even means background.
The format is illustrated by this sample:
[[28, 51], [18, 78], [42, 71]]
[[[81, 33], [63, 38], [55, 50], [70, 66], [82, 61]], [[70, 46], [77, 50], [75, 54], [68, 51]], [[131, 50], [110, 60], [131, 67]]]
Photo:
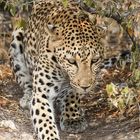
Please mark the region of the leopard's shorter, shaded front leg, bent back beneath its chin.
[[88, 125], [80, 108], [80, 95], [74, 90], [66, 92], [62, 99], [61, 129], [70, 133], [83, 132]]

